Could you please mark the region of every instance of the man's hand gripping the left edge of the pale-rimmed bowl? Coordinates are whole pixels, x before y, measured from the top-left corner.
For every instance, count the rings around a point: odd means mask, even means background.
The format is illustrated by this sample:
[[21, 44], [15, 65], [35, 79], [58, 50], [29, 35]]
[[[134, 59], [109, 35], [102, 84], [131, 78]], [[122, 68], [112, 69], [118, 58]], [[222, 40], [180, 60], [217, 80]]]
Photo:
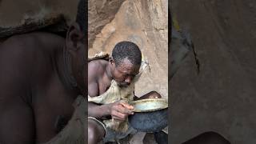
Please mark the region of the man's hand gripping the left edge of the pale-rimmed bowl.
[[130, 106], [128, 103], [118, 101], [110, 104], [110, 115], [112, 119], [118, 121], [125, 121], [128, 115], [134, 114], [134, 106]]

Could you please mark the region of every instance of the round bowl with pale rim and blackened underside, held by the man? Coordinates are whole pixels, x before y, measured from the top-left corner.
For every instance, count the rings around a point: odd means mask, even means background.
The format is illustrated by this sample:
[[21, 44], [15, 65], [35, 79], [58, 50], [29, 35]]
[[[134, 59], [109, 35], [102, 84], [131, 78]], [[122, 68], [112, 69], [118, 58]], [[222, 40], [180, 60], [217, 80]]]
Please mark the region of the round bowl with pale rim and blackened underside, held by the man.
[[143, 99], [131, 103], [134, 114], [129, 123], [135, 130], [158, 132], [168, 125], [168, 102], [166, 99]]

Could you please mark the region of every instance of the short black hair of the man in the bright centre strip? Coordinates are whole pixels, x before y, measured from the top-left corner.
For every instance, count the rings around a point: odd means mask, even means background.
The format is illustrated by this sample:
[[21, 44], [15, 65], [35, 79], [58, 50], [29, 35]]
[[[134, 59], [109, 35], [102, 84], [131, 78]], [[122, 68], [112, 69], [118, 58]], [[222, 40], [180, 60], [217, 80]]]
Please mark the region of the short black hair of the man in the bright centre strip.
[[112, 58], [118, 66], [127, 58], [133, 65], [141, 65], [142, 52], [134, 42], [118, 42], [112, 50]]

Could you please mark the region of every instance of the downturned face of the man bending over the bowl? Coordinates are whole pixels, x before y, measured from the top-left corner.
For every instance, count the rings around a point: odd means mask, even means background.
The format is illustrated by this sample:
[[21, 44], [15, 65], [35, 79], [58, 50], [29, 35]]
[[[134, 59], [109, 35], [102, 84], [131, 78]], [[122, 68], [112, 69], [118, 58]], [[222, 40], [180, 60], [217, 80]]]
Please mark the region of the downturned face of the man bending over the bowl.
[[127, 58], [125, 58], [118, 66], [114, 64], [113, 67], [112, 76], [114, 80], [118, 82], [118, 86], [127, 87], [138, 74], [140, 66], [133, 65]]

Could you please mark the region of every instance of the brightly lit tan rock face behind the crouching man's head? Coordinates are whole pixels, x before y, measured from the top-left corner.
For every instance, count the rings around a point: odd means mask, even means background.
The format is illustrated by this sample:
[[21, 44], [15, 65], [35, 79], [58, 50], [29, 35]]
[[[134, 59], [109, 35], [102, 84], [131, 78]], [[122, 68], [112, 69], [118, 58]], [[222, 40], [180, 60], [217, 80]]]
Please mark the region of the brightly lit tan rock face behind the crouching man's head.
[[[142, 50], [143, 57], [150, 63], [150, 71], [142, 74], [135, 86], [135, 94], [138, 96], [150, 90], [158, 91], [165, 98], [168, 96], [167, 3], [167, 0], [126, 0], [122, 2], [114, 19], [96, 35], [89, 50], [89, 55], [92, 56], [99, 51], [110, 53], [114, 45], [120, 41], [136, 43]], [[90, 19], [97, 19], [93, 17], [95, 15], [89, 16]], [[106, 19], [110, 18], [113, 16]], [[97, 30], [94, 27], [97, 26], [96, 23], [89, 22], [89, 29]]]

